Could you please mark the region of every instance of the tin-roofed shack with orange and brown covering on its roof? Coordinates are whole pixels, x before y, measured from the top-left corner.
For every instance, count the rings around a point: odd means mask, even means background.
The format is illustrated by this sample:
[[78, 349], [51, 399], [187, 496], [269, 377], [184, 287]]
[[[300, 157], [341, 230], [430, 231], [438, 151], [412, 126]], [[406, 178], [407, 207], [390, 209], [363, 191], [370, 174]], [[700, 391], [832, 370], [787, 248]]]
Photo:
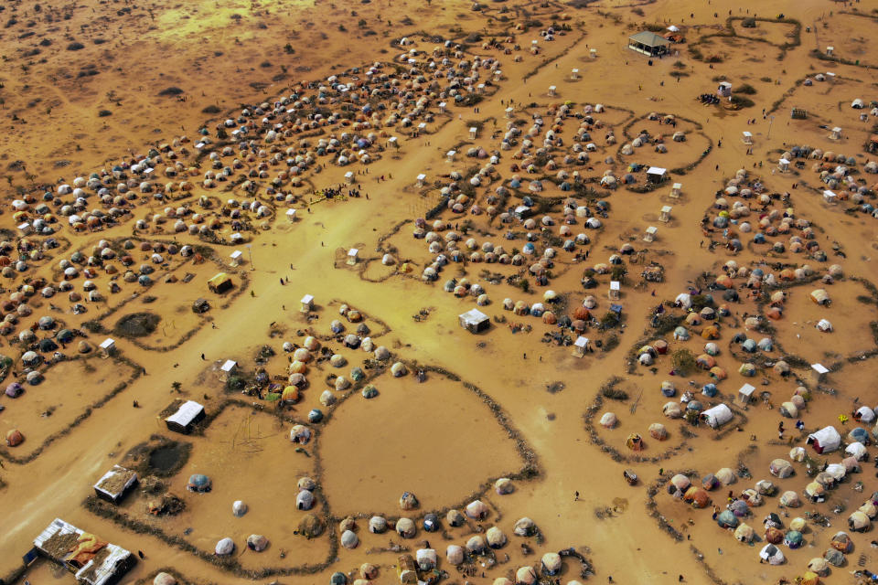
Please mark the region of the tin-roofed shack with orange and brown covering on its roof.
[[40, 554], [64, 565], [80, 583], [112, 585], [137, 562], [131, 552], [100, 540], [60, 518], [55, 518], [34, 546]]

